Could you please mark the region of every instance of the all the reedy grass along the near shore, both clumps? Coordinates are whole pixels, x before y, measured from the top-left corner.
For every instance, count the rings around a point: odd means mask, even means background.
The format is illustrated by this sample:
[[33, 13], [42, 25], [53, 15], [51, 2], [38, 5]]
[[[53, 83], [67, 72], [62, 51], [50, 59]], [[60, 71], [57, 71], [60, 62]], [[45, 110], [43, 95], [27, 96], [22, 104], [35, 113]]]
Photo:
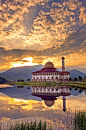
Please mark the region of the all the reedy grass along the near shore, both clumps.
[[[86, 130], [86, 111], [75, 111], [74, 116], [71, 113], [66, 113], [65, 117], [67, 130]], [[63, 119], [64, 122], [64, 119]], [[22, 121], [21, 123], [10, 123], [5, 127], [6, 130], [54, 130], [53, 125], [51, 123], [47, 123], [46, 121]], [[60, 128], [63, 128], [62, 125]], [[72, 129], [71, 129], [72, 128]], [[3, 130], [4, 127], [3, 127]]]

